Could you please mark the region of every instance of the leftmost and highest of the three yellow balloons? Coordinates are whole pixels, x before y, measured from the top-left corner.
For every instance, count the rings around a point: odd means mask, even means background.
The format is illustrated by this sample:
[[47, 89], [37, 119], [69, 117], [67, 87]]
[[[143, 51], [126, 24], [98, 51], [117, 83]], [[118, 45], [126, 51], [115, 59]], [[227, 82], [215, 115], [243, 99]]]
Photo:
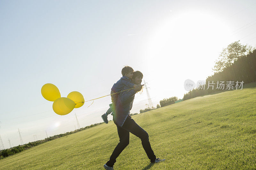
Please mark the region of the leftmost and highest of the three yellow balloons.
[[43, 85], [41, 94], [46, 100], [51, 102], [54, 102], [57, 98], [60, 98], [60, 90], [51, 83]]

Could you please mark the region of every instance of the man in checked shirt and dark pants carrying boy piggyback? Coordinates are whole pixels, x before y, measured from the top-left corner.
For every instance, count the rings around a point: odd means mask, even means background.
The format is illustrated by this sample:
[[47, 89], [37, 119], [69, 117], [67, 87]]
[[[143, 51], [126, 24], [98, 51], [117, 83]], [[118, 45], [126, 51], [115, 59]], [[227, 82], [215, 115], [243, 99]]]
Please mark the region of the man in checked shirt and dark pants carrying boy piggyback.
[[[139, 71], [133, 73], [132, 82], [134, 84], [140, 84], [143, 78], [143, 74]], [[142, 87], [131, 89], [124, 86], [121, 93], [118, 94], [116, 106], [114, 108], [113, 121], [117, 127], [117, 133], [119, 136], [119, 143], [114, 149], [109, 161], [104, 165], [107, 170], [113, 170], [113, 166], [116, 162], [116, 158], [129, 144], [130, 132], [141, 139], [141, 144], [145, 150], [151, 163], [157, 163], [164, 161], [165, 159], [156, 158], [148, 139], [148, 133], [141, 128], [130, 116], [130, 110], [132, 109], [132, 103], [134, 95], [141, 90]], [[130, 89], [130, 90], [127, 90]]]

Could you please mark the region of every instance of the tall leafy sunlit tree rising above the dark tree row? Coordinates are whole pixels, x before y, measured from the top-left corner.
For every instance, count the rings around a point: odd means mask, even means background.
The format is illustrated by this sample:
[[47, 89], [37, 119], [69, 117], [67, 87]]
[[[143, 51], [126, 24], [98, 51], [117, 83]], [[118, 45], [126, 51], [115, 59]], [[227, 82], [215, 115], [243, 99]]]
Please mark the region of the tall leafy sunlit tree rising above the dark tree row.
[[224, 68], [231, 66], [238, 58], [247, 55], [254, 50], [252, 46], [242, 45], [239, 42], [240, 40], [235, 41], [234, 43], [229, 44], [227, 48], [223, 48], [218, 60], [215, 60], [214, 68], [212, 68], [214, 73], [222, 72]]

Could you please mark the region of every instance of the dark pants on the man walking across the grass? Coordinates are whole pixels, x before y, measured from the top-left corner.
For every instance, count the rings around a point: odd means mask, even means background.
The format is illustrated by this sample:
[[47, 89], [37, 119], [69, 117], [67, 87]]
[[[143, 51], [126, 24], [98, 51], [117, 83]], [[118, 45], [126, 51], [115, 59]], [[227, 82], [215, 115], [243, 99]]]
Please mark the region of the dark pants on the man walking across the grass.
[[120, 155], [120, 153], [124, 150], [124, 148], [129, 144], [130, 132], [133, 135], [136, 135], [140, 138], [143, 149], [145, 150], [150, 162], [154, 162], [156, 159], [156, 155], [151, 149], [148, 133], [141, 128], [130, 115], [126, 118], [122, 127], [117, 126], [117, 132], [119, 136], [119, 143], [114, 149], [112, 155], [109, 158], [109, 161], [106, 163], [107, 166], [113, 167], [116, 162], [116, 158]]

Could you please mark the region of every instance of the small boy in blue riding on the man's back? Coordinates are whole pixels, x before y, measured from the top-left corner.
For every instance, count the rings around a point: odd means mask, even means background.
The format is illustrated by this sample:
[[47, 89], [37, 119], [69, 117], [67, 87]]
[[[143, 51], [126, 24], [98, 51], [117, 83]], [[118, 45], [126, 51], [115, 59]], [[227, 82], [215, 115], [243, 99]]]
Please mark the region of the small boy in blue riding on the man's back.
[[[113, 87], [111, 88], [111, 101], [112, 101], [112, 104], [109, 104], [109, 109], [108, 111], [101, 115], [101, 118], [103, 119], [103, 121], [105, 123], [108, 123], [108, 115], [114, 111], [114, 108], [115, 108], [115, 104], [116, 104], [116, 99], [117, 99], [117, 96], [118, 96], [118, 93], [117, 92], [120, 92], [124, 86], [128, 86], [130, 88], [135, 88], [135, 87], [140, 87], [142, 86], [141, 84], [133, 84], [132, 83], [132, 76], [133, 76], [133, 69], [132, 67], [130, 66], [125, 66], [123, 69], [122, 69], [122, 75], [123, 77], [121, 77], [120, 80], [118, 80], [114, 85]], [[113, 93], [116, 93], [116, 94], [113, 94]], [[113, 94], [113, 95], [112, 95]], [[112, 113], [113, 115], [113, 113]]]

